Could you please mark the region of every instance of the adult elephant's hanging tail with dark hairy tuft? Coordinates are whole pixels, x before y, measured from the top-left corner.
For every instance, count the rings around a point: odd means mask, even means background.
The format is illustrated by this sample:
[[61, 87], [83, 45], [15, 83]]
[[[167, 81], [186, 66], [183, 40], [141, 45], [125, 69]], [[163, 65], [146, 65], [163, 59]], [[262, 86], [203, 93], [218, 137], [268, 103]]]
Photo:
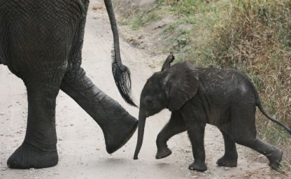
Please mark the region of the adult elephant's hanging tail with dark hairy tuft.
[[130, 78], [130, 71], [127, 66], [123, 65], [120, 57], [119, 36], [118, 27], [115, 20], [113, 6], [111, 0], [104, 0], [106, 10], [111, 23], [111, 29], [113, 32], [113, 50], [112, 50], [112, 73], [115, 80], [115, 84], [118, 87], [118, 91], [127, 103], [132, 106], [136, 106], [134, 103], [132, 92], [132, 80]]

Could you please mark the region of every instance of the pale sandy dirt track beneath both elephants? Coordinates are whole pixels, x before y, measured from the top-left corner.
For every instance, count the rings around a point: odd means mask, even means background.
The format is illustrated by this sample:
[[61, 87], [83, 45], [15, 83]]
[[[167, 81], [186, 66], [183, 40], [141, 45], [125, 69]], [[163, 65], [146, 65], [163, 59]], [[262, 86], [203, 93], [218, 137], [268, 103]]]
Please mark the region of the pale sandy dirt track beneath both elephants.
[[[118, 93], [111, 74], [112, 34], [104, 9], [92, 10], [99, 1], [92, 1], [87, 15], [83, 68], [101, 90], [119, 101], [134, 116], [138, 109], [128, 106]], [[124, 64], [132, 72], [133, 96], [139, 94], [146, 79], [157, 69], [150, 64], [164, 57], [151, 57], [121, 40]], [[165, 55], [166, 57], [166, 55]], [[224, 153], [222, 135], [215, 127], [206, 127], [205, 148], [208, 171], [199, 173], [187, 169], [192, 163], [192, 150], [187, 134], [169, 141], [173, 154], [155, 159], [155, 139], [169, 120], [163, 110], [150, 117], [139, 160], [134, 160], [136, 134], [120, 150], [108, 155], [100, 127], [64, 92], [57, 97], [57, 148], [59, 164], [48, 169], [8, 169], [6, 161], [22, 143], [27, 123], [27, 94], [22, 80], [6, 66], [0, 66], [0, 178], [283, 178], [269, 170], [267, 159], [248, 148], [238, 146], [236, 168], [218, 167], [215, 162]]]

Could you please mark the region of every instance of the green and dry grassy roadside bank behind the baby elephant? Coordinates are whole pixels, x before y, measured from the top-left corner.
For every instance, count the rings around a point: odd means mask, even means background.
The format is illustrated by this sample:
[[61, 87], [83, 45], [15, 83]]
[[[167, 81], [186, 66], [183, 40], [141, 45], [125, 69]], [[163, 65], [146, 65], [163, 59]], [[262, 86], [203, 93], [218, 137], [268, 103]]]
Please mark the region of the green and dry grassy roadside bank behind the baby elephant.
[[[158, 0], [125, 18], [141, 29], [166, 16], [164, 52], [195, 66], [232, 67], [255, 83], [266, 110], [291, 127], [291, 3], [289, 0]], [[259, 137], [284, 150], [278, 172], [290, 176], [291, 137], [257, 113]]]

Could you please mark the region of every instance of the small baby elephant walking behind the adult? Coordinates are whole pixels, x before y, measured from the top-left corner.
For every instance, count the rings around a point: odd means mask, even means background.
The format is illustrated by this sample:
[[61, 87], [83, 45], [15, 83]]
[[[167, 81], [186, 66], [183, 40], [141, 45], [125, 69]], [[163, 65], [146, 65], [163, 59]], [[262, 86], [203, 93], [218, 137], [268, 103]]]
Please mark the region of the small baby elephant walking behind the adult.
[[218, 159], [218, 166], [237, 165], [236, 143], [239, 143], [266, 156], [272, 168], [278, 167], [282, 150], [256, 138], [256, 106], [290, 134], [291, 129], [266, 113], [250, 79], [234, 69], [194, 68], [190, 62], [171, 66], [173, 59], [173, 55], [167, 57], [162, 71], [154, 73], [141, 92], [134, 159], [138, 159], [141, 150], [146, 117], [168, 108], [171, 118], [157, 136], [157, 159], [171, 155], [166, 141], [187, 130], [194, 157], [189, 169], [206, 171], [204, 129], [208, 123], [220, 129], [225, 141], [225, 155]]

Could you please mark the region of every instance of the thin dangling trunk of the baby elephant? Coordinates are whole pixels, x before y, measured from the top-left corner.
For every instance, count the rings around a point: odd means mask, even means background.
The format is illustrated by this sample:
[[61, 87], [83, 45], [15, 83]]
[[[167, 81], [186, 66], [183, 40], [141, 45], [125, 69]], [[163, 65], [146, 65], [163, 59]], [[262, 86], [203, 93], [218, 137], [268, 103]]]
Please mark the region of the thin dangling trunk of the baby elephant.
[[134, 159], [138, 159], [139, 151], [141, 150], [141, 145], [143, 145], [143, 134], [145, 131], [146, 116], [139, 112], [139, 131], [137, 136], [136, 151], [134, 152]]

